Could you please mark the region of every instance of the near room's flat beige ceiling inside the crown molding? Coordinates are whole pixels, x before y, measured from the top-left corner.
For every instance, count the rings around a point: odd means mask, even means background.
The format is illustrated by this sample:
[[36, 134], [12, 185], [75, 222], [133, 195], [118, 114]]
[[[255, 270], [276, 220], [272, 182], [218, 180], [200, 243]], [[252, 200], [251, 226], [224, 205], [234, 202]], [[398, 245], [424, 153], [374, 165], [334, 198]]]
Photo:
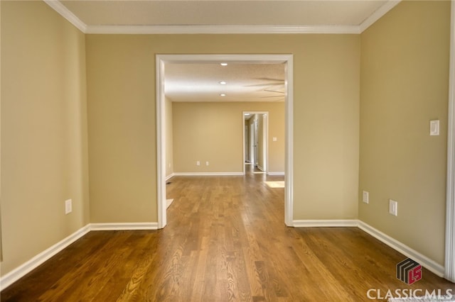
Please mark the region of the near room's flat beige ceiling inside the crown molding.
[[87, 26], [358, 26], [387, 1], [86, 1], [61, 3]]

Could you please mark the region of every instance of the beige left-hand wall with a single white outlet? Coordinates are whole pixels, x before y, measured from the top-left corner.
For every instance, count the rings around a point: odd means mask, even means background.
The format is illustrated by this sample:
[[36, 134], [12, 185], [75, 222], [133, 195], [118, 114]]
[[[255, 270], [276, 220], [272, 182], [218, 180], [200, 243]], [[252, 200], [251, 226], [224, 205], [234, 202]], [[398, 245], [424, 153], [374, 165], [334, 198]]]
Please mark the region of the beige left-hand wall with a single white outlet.
[[89, 196], [85, 36], [43, 1], [0, 5], [4, 275], [86, 225]]

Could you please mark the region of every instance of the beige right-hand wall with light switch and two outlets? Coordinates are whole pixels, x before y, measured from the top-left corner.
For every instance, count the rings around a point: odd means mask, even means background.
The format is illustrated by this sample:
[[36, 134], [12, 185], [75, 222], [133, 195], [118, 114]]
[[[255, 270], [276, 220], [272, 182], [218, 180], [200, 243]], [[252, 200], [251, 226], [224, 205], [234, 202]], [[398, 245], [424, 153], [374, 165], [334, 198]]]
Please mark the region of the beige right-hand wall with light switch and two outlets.
[[[444, 264], [449, 1], [404, 1], [361, 35], [359, 218]], [[441, 134], [429, 136], [429, 121]], [[388, 213], [389, 198], [398, 216]]]

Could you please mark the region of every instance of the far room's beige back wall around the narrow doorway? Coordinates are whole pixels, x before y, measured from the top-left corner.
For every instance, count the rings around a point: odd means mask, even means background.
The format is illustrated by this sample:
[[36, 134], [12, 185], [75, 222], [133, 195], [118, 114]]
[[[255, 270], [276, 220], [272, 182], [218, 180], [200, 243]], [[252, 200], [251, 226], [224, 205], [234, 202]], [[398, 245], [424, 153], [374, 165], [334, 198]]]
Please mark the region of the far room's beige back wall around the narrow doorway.
[[174, 102], [174, 172], [243, 172], [243, 111], [269, 111], [269, 171], [284, 171], [284, 103]]

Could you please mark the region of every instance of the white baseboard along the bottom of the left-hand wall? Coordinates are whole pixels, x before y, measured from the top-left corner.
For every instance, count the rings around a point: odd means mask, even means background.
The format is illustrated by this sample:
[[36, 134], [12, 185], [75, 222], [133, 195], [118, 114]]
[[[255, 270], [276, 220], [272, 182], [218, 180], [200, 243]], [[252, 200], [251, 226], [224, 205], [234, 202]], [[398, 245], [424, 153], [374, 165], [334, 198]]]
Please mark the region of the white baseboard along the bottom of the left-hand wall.
[[49, 247], [48, 249], [44, 250], [43, 252], [39, 253], [35, 257], [31, 258], [21, 266], [17, 267], [16, 269], [12, 270], [8, 274], [1, 276], [0, 278], [0, 291], [6, 289], [6, 287], [10, 286], [14, 282], [21, 279], [23, 276], [31, 272], [33, 269], [36, 269], [39, 265], [46, 262], [48, 259], [53, 257], [55, 254], [60, 252], [61, 250], [68, 247], [68, 245], [75, 242], [77, 239], [82, 237], [83, 235], [90, 232], [90, 226], [85, 225], [85, 227], [80, 228], [75, 233], [69, 235], [63, 240], [55, 243], [55, 245]]

